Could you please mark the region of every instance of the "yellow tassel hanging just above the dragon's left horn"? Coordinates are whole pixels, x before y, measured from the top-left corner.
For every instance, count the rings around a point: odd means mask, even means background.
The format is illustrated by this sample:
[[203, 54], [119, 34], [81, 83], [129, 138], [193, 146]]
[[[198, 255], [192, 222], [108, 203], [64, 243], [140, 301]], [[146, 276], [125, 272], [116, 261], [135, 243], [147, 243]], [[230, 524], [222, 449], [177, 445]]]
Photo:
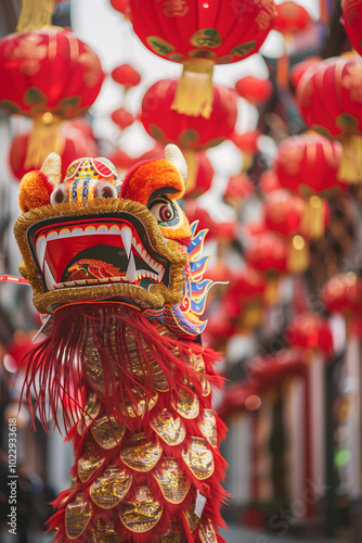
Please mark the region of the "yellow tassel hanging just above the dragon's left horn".
[[[49, 114], [48, 117], [47, 114]], [[60, 137], [61, 123], [62, 119], [53, 116], [51, 113], [44, 113], [34, 119], [26, 150], [25, 169], [38, 169], [50, 153], [62, 152]]]

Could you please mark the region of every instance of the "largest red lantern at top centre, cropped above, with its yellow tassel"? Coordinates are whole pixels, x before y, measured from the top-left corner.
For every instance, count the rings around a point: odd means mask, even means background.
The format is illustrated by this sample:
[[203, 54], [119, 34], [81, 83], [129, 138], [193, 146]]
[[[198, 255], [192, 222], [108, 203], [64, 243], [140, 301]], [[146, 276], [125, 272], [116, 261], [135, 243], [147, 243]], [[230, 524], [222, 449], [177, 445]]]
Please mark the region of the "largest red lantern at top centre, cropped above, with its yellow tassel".
[[256, 53], [274, 17], [273, 0], [129, 0], [133, 29], [163, 59], [183, 64], [172, 109], [209, 118], [212, 68]]

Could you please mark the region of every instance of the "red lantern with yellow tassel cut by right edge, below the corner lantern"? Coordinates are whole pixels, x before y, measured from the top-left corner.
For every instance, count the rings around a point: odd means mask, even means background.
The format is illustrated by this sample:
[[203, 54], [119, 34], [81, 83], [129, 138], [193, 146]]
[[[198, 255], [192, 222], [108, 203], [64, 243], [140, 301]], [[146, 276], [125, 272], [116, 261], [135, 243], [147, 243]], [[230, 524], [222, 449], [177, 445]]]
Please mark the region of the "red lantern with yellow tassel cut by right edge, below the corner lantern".
[[[362, 179], [362, 59], [326, 59], [301, 77], [296, 99], [308, 126], [342, 143], [338, 179]], [[326, 98], [327, 97], [327, 98]]]

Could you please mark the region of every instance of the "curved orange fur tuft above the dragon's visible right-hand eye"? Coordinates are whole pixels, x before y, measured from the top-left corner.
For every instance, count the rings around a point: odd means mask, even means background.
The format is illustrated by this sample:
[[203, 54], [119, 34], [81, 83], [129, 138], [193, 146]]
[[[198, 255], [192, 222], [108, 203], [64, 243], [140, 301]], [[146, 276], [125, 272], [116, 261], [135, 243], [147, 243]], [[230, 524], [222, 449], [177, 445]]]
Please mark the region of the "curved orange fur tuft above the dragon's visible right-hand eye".
[[180, 173], [165, 159], [146, 162], [131, 169], [125, 178], [121, 198], [146, 205], [151, 194], [163, 187], [177, 189], [177, 192], [168, 194], [172, 200], [181, 198], [184, 192]]

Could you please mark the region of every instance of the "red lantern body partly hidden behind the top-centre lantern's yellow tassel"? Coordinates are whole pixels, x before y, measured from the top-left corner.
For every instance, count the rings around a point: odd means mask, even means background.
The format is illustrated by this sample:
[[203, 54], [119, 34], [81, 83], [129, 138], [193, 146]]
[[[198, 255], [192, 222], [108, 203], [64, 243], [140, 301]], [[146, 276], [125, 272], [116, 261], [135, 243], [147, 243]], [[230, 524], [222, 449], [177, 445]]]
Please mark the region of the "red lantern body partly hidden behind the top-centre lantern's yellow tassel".
[[140, 121], [163, 144], [176, 143], [183, 150], [202, 151], [229, 139], [237, 117], [236, 93], [215, 85], [214, 110], [209, 119], [191, 117], [171, 110], [178, 79], [155, 83], [144, 94]]

